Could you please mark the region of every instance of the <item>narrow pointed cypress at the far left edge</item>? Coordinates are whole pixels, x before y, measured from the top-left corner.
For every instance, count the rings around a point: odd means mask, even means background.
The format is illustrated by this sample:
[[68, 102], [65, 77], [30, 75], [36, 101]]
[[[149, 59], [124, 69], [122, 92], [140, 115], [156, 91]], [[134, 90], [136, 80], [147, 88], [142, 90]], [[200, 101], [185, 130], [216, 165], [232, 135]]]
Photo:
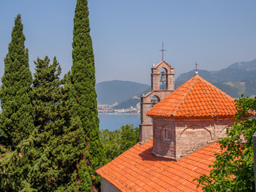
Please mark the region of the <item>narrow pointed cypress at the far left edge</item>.
[[30, 100], [32, 75], [28, 50], [25, 48], [21, 15], [15, 18], [11, 42], [6, 54], [5, 72], [2, 76], [0, 98], [0, 143], [13, 150], [22, 139], [27, 138], [33, 126], [33, 110]]

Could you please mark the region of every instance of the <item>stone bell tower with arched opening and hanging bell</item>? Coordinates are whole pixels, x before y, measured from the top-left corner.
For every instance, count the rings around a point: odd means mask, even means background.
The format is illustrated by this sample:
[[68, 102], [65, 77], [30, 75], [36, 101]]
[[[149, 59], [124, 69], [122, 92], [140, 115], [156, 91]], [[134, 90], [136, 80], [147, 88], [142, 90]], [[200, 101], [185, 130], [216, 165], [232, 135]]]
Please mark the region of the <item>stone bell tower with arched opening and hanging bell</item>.
[[151, 90], [150, 93], [141, 97], [141, 124], [139, 125], [139, 140], [146, 142], [153, 135], [153, 124], [146, 113], [157, 102], [174, 91], [174, 68], [161, 61], [157, 66], [151, 68]]

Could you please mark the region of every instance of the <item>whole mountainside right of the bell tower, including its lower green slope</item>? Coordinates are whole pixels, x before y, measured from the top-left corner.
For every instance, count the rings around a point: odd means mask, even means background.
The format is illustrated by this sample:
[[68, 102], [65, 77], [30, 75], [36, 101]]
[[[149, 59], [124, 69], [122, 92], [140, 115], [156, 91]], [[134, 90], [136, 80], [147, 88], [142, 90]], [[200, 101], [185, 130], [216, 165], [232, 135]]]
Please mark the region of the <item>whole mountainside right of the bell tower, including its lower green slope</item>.
[[[233, 98], [256, 94], [256, 59], [250, 62], [235, 62], [226, 69], [217, 71], [198, 70], [198, 74]], [[194, 76], [194, 70], [180, 74], [176, 82], [186, 82]]]

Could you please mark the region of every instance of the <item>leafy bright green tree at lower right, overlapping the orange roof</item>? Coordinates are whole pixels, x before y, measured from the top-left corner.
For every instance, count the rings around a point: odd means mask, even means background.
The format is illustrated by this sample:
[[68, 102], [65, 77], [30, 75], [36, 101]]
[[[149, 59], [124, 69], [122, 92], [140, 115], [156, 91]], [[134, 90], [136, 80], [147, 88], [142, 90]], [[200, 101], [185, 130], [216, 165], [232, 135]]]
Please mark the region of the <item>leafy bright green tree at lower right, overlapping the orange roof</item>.
[[198, 178], [198, 185], [205, 191], [255, 190], [252, 136], [256, 131], [256, 98], [239, 98], [236, 102], [238, 122], [228, 130], [228, 137], [219, 141], [222, 152], [215, 154], [210, 175]]

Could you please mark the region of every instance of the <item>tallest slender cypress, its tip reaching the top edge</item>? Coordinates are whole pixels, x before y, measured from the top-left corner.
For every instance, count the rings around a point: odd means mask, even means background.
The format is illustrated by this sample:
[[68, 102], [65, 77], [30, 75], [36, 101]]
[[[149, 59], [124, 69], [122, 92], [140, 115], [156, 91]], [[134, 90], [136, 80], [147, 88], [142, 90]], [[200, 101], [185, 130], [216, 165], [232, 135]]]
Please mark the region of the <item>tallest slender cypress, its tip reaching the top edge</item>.
[[[86, 134], [86, 168], [84, 163], [82, 170], [88, 173], [82, 175], [90, 175], [80, 177], [82, 179], [81, 186], [91, 186], [96, 188], [99, 186], [99, 176], [95, 174], [95, 170], [102, 166], [105, 161], [102, 143], [99, 139], [98, 129], [98, 110], [97, 110], [97, 94], [95, 91], [95, 67], [94, 67], [94, 51], [92, 39], [90, 38], [90, 22], [87, 0], [78, 0], [74, 14], [74, 30], [73, 30], [73, 66], [71, 72], [72, 86], [70, 90], [70, 101], [73, 103], [73, 118], [78, 118], [82, 122], [82, 128]], [[82, 161], [84, 161], [83, 159]], [[90, 191], [91, 187], [82, 189], [82, 191]]]

